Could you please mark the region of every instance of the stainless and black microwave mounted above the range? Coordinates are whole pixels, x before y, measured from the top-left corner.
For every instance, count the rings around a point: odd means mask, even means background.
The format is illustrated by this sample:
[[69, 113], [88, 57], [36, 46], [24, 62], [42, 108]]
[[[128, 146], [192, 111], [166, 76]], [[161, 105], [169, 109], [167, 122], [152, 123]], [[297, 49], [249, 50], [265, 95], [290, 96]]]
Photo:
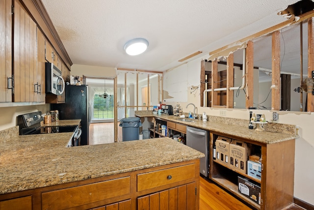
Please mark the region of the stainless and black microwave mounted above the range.
[[53, 63], [46, 62], [46, 93], [61, 95], [64, 91], [62, 71]]

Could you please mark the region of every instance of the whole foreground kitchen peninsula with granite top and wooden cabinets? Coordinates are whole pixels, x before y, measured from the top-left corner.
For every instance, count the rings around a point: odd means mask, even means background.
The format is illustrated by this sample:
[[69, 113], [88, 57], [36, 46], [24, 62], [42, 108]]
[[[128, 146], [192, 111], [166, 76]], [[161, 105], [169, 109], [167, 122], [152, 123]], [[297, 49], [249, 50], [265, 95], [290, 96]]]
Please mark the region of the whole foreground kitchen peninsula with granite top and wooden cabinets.
[[0, 209], [135, 210], [156, 199], [198, 209], [203, 153], [167, 137], [66, 148], [71, 136], [0, 132]]

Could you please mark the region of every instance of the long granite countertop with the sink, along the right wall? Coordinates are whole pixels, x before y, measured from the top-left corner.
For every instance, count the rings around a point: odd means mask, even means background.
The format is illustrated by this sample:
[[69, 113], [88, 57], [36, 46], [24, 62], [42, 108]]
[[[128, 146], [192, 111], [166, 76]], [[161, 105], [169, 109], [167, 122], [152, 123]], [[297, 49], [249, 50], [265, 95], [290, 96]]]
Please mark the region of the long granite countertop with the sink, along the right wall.
[[135, 115], [139, 118], [155, 117], [160, 120], [173, 121], [187, 126], [209, 130], [209, 132], [219, 132], [232, 135], [235, 138], [244, 138], [264, 144], [273, 144], [299, 137], [296, 134], [296, 126], [289, 124], [267, 123], [264, 125], [265, 131], [259, 132], [255, 129], [248, 129], [248, 120], [209, 116], [209, 121], [191, 119], [193, 122], [184, 122], [178, 120], [180, 119], [179, 116], [164, 114], [154, 115], [152, 111], [138, 111]]

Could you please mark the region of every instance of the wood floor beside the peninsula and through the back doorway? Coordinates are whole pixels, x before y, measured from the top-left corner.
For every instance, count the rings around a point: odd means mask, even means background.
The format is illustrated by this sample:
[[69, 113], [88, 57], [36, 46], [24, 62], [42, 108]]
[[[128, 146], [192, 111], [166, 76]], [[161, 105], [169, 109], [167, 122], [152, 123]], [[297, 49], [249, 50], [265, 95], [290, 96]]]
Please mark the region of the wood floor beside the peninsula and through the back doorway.
[[[122, 141], [122, 128], [118, 125], [118, 141]], [[114, 142], [114, 123], [91, 123], [89, 127], [89, 144]], [[252, 210], [234, 196], [210, 180], [200, 178], [200, 210]], [[304, 210], [296, 205], [287, 210]]]

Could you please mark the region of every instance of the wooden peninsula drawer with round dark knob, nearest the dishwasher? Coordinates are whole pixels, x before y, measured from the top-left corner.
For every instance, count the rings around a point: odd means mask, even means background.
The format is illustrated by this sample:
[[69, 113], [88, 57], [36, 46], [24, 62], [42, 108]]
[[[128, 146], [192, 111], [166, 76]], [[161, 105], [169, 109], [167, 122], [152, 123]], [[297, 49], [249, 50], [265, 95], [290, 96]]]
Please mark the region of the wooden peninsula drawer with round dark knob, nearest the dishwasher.
[[137, 175], [137, 191], [195, 178], [195, 164]]

